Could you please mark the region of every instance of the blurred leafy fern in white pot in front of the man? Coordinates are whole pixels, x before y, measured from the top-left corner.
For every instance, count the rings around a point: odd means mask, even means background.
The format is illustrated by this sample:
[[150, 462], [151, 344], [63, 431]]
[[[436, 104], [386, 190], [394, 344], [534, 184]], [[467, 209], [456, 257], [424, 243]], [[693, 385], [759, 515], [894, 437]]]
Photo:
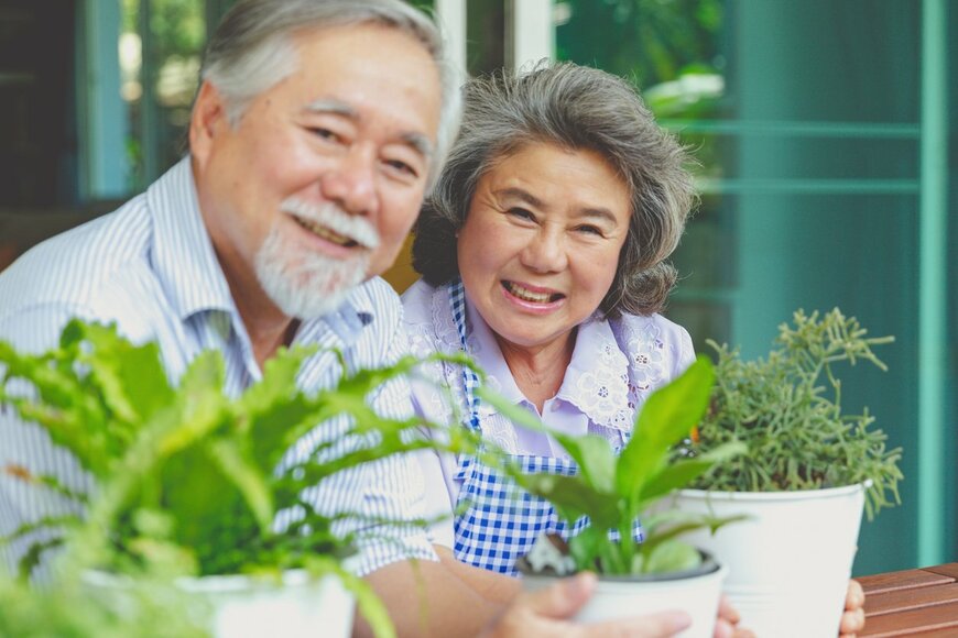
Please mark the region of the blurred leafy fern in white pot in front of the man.
[[[134, 345], [111, 327], [72, 321], [58, 348], [39, 355], [0, 342], [0, 405], [43, 427], [97, 484], [94, 494], [77, 494], [53, 476], [0, 468], [33, 483], [37, 494], [86, 509], [83, 519], [47, 518], [6, 539], [66, 530], [34, 542], [21, 575], [65, 542], [63, 572], [81, 573], [107, 595], [129, 590], [144, 565], [194, 576], [178, 585], [210, 603], [216, 636], [270, 635], [277, 606], [287, 635], [348, 635], [353, 597], [378, 635], [392, 635], [372, 591], [344, 568], [355, 537], [338, 530], [340, 517], [315, 512], [304, 491], [360, 463], [437, 444], [412, 436], [427, 424], [383, 418], [367, 402], [418, 362], [349, 373], [337, 387], [307, 395], [296, 375], [314, 352], [281, 351], [261, 382], [230, 397], [214, 351], [197, 356], [173, 385], [155, 344]], [[275, 471], [294, 442], [338, 414], [352, 416], [349, 431]], [[357, 444], [341, 452], [336, 446], [346, 437]], [[467, 442], [458, 437], [447, 444], [456, 451]], [[276, 529], [276, 513], [289, 508], [302, 516]]]

